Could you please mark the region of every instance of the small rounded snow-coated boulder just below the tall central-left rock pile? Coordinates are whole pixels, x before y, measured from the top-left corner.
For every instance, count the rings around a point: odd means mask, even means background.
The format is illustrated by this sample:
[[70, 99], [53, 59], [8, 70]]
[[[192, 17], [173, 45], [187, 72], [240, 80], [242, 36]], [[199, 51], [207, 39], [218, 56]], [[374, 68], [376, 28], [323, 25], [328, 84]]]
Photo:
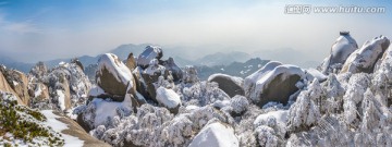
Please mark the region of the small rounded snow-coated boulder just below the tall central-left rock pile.
[[157, 101], [173, 113], [176, 113], [181, 106], [179, 94], [176, 94], [173, 89], [167, 89], [164, 87], [159, 87], [157, 89]]

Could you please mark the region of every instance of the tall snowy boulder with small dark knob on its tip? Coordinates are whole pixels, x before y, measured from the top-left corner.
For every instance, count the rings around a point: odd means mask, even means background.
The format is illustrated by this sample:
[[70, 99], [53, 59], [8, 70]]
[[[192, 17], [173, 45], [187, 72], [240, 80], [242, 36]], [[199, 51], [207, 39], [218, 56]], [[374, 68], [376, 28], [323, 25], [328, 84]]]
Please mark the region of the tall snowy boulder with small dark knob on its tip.
[[[336, 41], [332, 45], [330, 56], [321, 65], [323, 74], [329, 74], [333, 70], [340, 71], [348, 56], [358, 49], [358, 45], [348, 32], [341, 32]], [[336, 72], [338, 72], [336, 71]]]

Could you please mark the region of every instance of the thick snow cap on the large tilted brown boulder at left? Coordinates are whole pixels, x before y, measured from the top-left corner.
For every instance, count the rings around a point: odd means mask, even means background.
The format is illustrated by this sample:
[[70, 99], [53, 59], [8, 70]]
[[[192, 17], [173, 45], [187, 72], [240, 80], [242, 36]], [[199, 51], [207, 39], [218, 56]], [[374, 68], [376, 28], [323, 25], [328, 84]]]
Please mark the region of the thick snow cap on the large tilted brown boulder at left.
[[[112, 53], [105, 53], [99, 58], [98, 71], [107, 69], [119, 82], [127, 85], [133, 79], [132, 73], [121, 60]], [[97, 79], [98, 82], [99, 79]], [[132, 83], [131, 83], [132, 84]]]

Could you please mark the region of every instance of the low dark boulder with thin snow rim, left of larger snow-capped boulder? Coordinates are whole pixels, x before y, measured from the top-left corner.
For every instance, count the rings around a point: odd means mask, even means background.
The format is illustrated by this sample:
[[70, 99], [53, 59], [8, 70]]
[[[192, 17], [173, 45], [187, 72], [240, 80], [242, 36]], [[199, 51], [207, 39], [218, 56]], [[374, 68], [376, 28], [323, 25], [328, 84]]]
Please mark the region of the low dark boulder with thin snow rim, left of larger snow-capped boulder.
[[235, 95], [244, 96], [244, 79], [241, 77], [230, 76], [226, 74], [212, 74], [208, 77], [208, 82], [216, 82], [219, 88], [226, 93], [230, 97]]

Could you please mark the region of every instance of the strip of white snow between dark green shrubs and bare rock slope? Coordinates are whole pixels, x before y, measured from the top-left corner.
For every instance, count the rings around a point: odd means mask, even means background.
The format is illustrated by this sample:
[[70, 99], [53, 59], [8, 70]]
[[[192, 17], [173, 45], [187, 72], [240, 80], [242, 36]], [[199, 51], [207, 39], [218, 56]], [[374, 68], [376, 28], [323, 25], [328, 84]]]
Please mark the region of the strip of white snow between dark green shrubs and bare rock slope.
[[82, 147], [84, 145], [84, 140], [62, 133], [62, 131], [68, 130], [69, 127], [66, 124], [57, 120], [61, 117], [56, 115], [52, 110], [42, 110], [40, 112], [47, 118], [47, 121], [44, 124], [52, 127], [56, 132], [59, 132], [62, 135], [62, 138], [64, 138], [65, 143], [64, 147]]

